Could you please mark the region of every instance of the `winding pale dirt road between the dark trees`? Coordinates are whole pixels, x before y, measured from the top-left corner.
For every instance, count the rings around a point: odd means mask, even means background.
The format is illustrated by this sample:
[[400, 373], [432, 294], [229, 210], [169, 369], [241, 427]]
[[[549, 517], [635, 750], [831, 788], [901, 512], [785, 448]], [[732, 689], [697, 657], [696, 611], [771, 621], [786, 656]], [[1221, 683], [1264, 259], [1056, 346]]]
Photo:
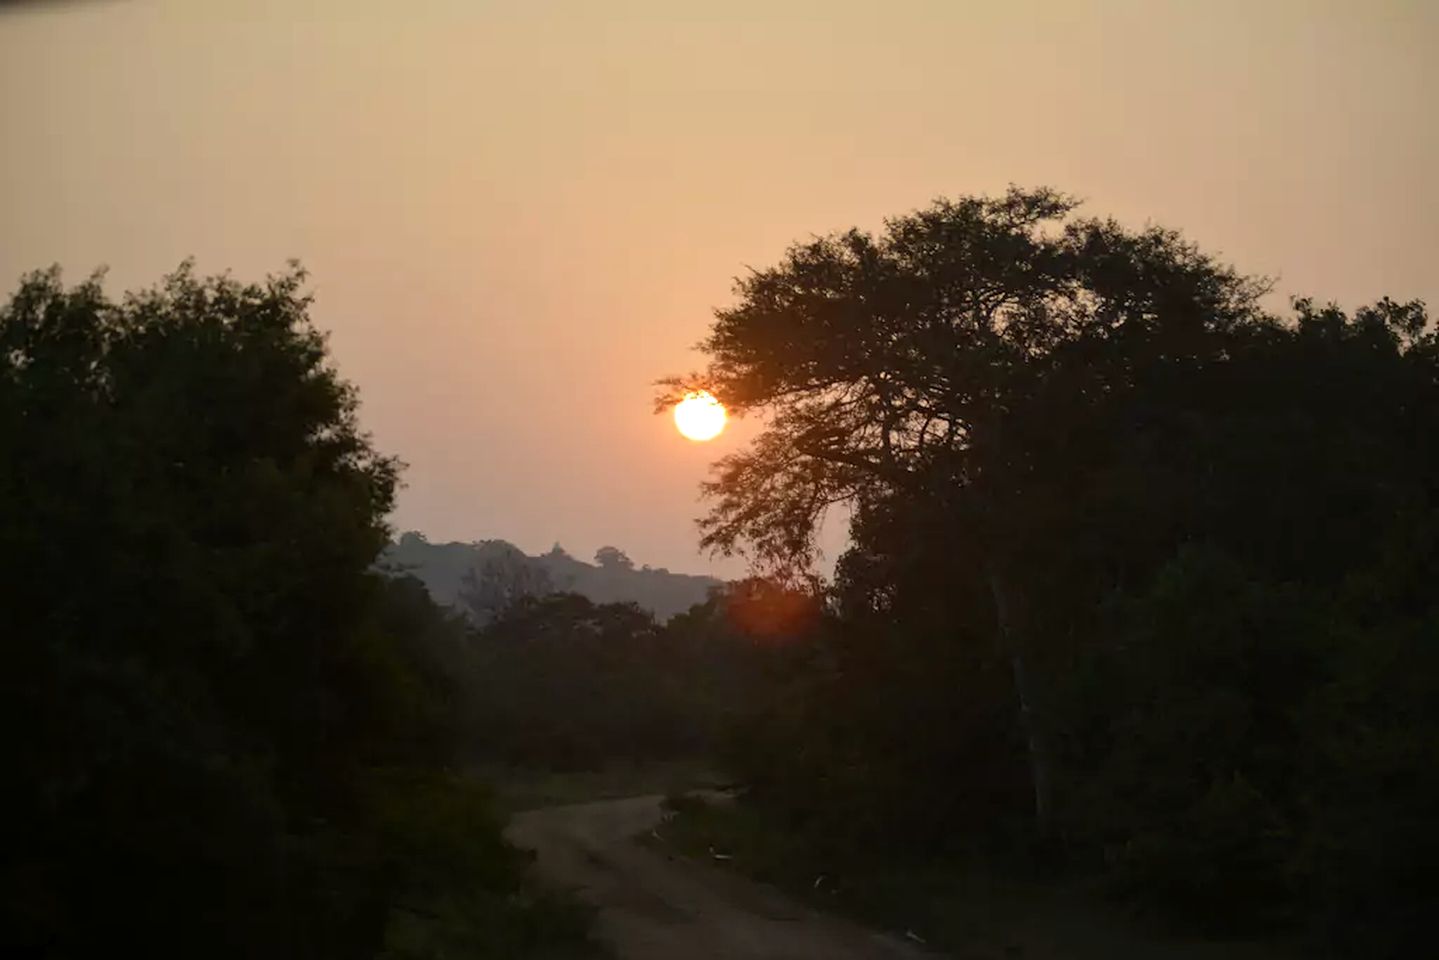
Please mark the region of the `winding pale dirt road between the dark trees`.
[[599, 907], [597, 933], [620, 960], [918, 960], [908, 943], [817, 914], [778, 891], [635, 838], [661, 797], [602, 800], [514, 818], [509, 838], [534, 869]]

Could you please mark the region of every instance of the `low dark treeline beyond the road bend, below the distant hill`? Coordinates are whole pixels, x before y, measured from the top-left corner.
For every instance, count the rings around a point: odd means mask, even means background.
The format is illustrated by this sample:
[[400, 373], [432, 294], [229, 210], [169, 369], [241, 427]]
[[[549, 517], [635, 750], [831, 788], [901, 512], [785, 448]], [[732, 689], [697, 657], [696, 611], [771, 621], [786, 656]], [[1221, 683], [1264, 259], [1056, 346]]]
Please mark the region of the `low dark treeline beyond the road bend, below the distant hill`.
[[778, 642], [803, 604], [750, 580], [661, 625], [632, 603], [522, 596], [468, 642], [469, 756], [557, 771], [708, 760], [809, 653]]

